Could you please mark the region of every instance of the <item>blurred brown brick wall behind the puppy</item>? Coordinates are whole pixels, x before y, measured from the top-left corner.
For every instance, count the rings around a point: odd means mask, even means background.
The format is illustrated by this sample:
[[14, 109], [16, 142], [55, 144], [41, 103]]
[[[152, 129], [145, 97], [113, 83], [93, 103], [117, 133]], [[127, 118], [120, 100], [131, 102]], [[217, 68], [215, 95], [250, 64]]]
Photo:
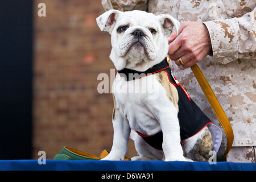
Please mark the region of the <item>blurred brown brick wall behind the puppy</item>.
[[114, 68], [110, 35], [96, 24], [102, 13], [100, 0], [34, 1], [34, 159], [40, 150], [52, 159], [63, 146], [94, 155], [112, 147], [112, 94], [97, 92], [98, 75]]

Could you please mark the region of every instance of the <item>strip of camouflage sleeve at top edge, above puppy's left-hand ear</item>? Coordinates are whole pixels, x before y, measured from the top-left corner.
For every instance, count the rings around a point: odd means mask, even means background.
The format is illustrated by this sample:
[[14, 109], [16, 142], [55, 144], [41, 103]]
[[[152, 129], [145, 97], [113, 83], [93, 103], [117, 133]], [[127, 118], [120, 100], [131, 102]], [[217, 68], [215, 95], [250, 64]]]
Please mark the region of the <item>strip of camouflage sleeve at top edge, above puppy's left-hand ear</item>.
[[112, 9], [119, 11], [147, 11], [148, 9], [147, 0], [102, 0], [101, 3], [106, 11]]

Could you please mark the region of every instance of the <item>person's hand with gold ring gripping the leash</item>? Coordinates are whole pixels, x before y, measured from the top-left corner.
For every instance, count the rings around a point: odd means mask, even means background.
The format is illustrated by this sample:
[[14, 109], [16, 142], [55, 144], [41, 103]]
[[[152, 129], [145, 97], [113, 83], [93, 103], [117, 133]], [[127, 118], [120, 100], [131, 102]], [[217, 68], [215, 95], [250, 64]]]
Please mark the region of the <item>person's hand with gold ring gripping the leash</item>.
[[201, 22], [181, 24], [179, 34], [172, 32], [168, 42], [170, 43], [168, 51], [170, 59], [180, 66], [179, 58], [181, 57], [181, 63], [184, 63], [183, 68], [192, 67], [209, 55], [212, 50], [208, 29]]

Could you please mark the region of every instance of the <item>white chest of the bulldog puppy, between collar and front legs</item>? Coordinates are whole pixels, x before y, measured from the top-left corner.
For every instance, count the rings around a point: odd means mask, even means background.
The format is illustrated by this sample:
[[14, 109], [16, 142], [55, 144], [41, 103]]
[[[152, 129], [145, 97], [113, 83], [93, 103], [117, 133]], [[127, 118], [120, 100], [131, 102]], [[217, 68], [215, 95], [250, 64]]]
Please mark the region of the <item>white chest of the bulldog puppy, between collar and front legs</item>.
[[157, 76], [150, 75], [132, 81], [117, 76], [113, 91], [121, 114], [119, 117], [123, 117], [131, 129], [148, 135], [160, 131], [156, 108], [160, 105], [159, 96], [166, 93]]

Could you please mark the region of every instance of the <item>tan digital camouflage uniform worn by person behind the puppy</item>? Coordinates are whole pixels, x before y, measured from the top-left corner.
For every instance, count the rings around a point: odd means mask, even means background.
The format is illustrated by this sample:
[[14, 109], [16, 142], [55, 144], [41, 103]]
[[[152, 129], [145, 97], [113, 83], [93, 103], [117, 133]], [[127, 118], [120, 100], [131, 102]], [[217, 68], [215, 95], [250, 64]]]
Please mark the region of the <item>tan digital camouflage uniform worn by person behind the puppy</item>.
[[[204, 22], [212, 42], [212, 55], [199, 67], [220, 101], [234, 131], [227, 161], [255, 162], [256, 149], [256, 1], [255, 0], [102, 0], [105, 10], [144, 10], [167, 13], [180, 23]], [[171, 64], [175, 77], [191, 98], [219, 127], [190, 68]], [[225, 146], [224, 136], [222, 146]]]

